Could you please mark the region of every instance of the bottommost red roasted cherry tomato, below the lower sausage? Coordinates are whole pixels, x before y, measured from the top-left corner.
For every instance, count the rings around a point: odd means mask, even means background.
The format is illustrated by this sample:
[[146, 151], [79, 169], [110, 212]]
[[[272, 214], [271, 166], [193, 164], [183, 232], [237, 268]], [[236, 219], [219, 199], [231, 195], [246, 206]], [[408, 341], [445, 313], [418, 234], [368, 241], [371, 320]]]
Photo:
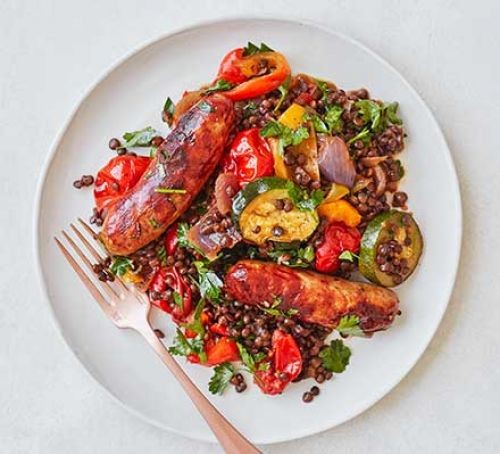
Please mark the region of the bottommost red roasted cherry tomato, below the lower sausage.
[[265, 394], [280, 394], [302, 371], [302, 355], [291, 334], [277, 329], [272, 339], [273, 363], [255, 372], [255, 382]]

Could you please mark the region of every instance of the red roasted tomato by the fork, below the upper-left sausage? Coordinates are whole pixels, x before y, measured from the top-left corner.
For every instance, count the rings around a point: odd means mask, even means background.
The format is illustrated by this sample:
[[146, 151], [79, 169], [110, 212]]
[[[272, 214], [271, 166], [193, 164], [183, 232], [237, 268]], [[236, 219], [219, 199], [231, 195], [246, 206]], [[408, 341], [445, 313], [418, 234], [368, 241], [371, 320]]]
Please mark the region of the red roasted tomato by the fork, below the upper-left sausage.
[[149, 290], [156, 293], [163, 293], [167, 288], [173, 289], [182, 298], [182, 308], [174, 305], [172, 308], [167, 300], [151, 299], [151, 304], [161, 310], [172, 314], [175, 322], [183, 322], [193, 309], [192, 292], [189, 284], [177, 271], [175, 266], [160, 268], [153, 277]]

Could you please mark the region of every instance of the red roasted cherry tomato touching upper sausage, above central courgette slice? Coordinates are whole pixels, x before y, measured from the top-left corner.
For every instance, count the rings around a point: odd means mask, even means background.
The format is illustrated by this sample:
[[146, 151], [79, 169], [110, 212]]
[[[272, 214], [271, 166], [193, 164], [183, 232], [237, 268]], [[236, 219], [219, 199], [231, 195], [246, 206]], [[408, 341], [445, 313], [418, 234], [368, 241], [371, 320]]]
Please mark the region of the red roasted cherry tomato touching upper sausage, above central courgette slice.
[[257, 178], [273, 175], [274, 158], [259, 128], [241, 131], [224, 156], [222, 169], [236, 175], [240, 186]]

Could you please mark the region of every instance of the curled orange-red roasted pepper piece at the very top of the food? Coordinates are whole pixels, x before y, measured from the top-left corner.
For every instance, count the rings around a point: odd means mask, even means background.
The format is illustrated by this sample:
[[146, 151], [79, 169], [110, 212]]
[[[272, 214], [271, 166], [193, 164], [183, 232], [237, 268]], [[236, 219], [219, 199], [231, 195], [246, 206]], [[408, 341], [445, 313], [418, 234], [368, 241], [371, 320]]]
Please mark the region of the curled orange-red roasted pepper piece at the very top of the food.
[[243, 55], [242, 48], [229, 52], [219, 67], [217, 79], [237, 84], [224, 95], [233, 101], [256, 98], [278, 88], [290, 75], [290, 66], [279, 52]]

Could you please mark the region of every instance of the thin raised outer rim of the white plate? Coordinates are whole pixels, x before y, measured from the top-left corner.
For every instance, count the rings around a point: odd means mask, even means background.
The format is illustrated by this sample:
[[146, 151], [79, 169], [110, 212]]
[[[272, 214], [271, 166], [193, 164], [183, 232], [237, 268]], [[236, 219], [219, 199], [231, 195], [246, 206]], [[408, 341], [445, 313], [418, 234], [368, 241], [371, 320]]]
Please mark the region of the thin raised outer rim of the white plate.
[[150, 46], [155, 45], [159, 41], [162, 41], [164, 39], [167, 39], [169, 37], [173, 37], [177, 34], [181, 34], [184, 32], [189, 32], [189, 31], [194, 31], [197, 28], [200, 27], [205, 27], [205, 26], [210, 26], [210, 25], [224, 25], [228, 22], [232, 21], [280, 21], [280, 22], [286, 22], [286, 23], [293, 23], [296, 25], [306, 25], [310, 27], [317, 28], [321, 31], [324, 31], [326, 33], [332, 34], [337, 36], [340, 39], [343, 39], [347, 42], [350, 42], [351, 44], [361, 48], [368, 54], [370, 54], [371, 57], [376, 59], [380, 64], [385, 66], [389, 71], [391, 71], [395, 76], [397, 76], [401, 82], [406, 86], [406, 88], [415, 96], [415, 99], [418, 101], [418, 103], [421, 105], [423, 110], [425, 111], [426, 115], [429, 117], [429, 120], [433, 124], [434, 127], [434, 133], [437, 134], [437, 136], [440, 138], [442, 141], [442, 144], [444, 145], [443, 148], [443, 153], [444, 153], [444, 158], [446, 162], [446, 166], [448, 167], [448, 171], [450, 174], [450, 178], [453, 182], [453, 187], [451, 188], [453, 191], [454, 195], [454, 203], [457, 209], [457, 220], [458, 220], [458, 225], [456, 226], [457, 232], [456, 232], [456, 244], [454, 247], [454, 255], [453, 257], [453, 262], [455, 263], [455, 267], [452, 272], [450, 273], [450, 276], [452, 279], [449, 280], [449, 284], [447, 285], [446, 290], [446, 302], [443, 304], [441, 308], [441, 313], [438, 315], [436, 318], [436, 322], [434, 326], [432, 327], [431, 330], [429, 330], [429, 335], [427, 336], [427, 339], [421, 344], [421, 349], [418, 352], [418, 355], [415, 356], [415, 361], [411, 364], [410, 367], [407, 368], [407, 370], [403, 371], [403, 373], [397, 377], [396, 379], [392, 380], [390, 383], [387, 384], [385, 389], [379, 393], [379, 395], [375, 398], [373, 398], [371, 401], [365, 403], [363, 407], [358, 408], [356, 411], [354, 411], [348, 418], [346, 418], [342, 423], [340, 424], [335, 424], [331, 425], [329, 423], [319, 425], [317, 426], [316, 429], [314, 430], [304, 430], [304, 431], [297, 431], [293, 435], [288, 436], [288, 437], [275, 437], [275, 438], [270, 438], [264, 443], [259, 443], [261, 445], [270, 445], [274, 443], [282, 443], [282, 442], [287, 442], [287, 441], [292, 441], [292, 440], [298, 440], [300, 438], [304, 438], [307, 436], [319, 434], [321, 432], [324, 432], [326, 430], [332, 429], [334, 427], [338, 427], [342, 424], [345, 424], [346, 422], [354, 419], [355, 417], [359, 416], [360, 414], [364, 413], [368, 409], [370, 409], [373, 405], [375, 405], [377, 402], [382, 400], [391, 390], [393, 390], [409, 373], [417, 362], [420, 360], [422, 355], [424, 354], [425, 350], [429, 346], [431, 340], [436, 334], [436, 331], [441, 324], [441, 321], [443, 319], [443, 316], [446, 312], [446, 309], [448, 308], [452, 292], [455, 286], [456, 278], [457, 278], [457, 273], [458, 273], [458, 268], [460, 264], [460, 256], [461, 256], [461, 249], [462, 249], [462, 237], [463, 237], [463, 209], [462, 209], [462, 201], [461, 201], [461, 194], [460, 194], [460, 185], [459, 185], [459, 180], [455, 168], [455, 164], [453, 162], [451, 152], [448, 146], [448, 143], [446, 141], [446, 138], [439, 126], [438, 121], [434, 117], [434, 114], [432, 113], [431, 109], [429, 106], [425, 103], [423, 98], [420, 96], [420, 94], [417, 92], [417, 90], [406, 80], [406, 78], [392, 65], [390, 64], [387, 60], [385, 60], [383, 57], [381, 57], [378, 53], [373, 51], [370, 47], [365, 45], [364, 43], [358, 41], [357, 39], [352, 38], [351, 36], [339, 32], [337, 30], [332, 29], [332, 27], [312, 21], [312, 20], [304, 20], [300, 19], [297, 16], [291, 15], [291, 14], [284, 14], [281, 13], [279, 15], [270, 15], [270, 14], [257, 14], [257, 15], [248, 15], [248, 14], [242, 14], [242, 15], [227, 15], [224, 17], [219, 17], [219, 18], [213, 18], [213, 19], [208, 19], [208, 20], [198, 20], [193, 22], [190, 25], [186, 26], [181, 26], [181, 27], [175, 27], [173, 30], [162, 33], [158, 35], [157, 37], [153, 39], [149, 39], [147, 41], [142, 42], [139, 45], [136, 45], [133, 49], [131, 49], [129, 52], [125, 53], [121, 58], [116, 60], [113, 64], [111, 64], [106, 70], [104, 70], [89, 86], [87, 89], [83, 90], [81, 95], [78, 97], [77, 101], [73, 105], [70, 113], [67, 115], [66, 120], [64, 121], [63, 125], [60, 127], [58, 130], [51, 146], [49, 149], [49, 153], [44, 159], [42, 169], [40, 172], [40, 176], [37, 182], [36, 186], [36, 193], [35, 193], [35, 203], [34, 203], [34, 216], [33, 216], [33, 224], [32, 224], [32, 235], [33, 235], [33, 247], [34, 247], [34, 252], [35, 252], [35, 271], [37, 275], [37, 280], [39, 283], [39, 286], [42, 290], [42, 299], [45, 302], [45, 305], [50, 313], [50, 318], [52, 319], [53, 326], [55, 327], [56, 331], [59, 333], [61, 336], [63, 343], [66, 345], [66, 348], [73, 354], [73, 356], [78, 360], [82, 368], [86, 371], [86, 373], [99, 385], [101, 389], [104, 389], [105, 392], [112, 397], [112, 399], [117, 402], [122, 408], [126, 409], [128, 412], [134, 414], [138, 418], [142, 419], [145, 422], [148, 422], [149, 424], [158, 427], [160, 429], [166, 430], [168, 432], [175, 433], [177, 435], [182, 435], [186, 438], [194, 439], [194, 440], [199, 440], [199, 441], [204, 441], [204, 442], [209, 442], [209, 443], [215, 443], [216, 441], [212, 438], [207, 438], [205, 436], [200, 436], [196, 433], [188, 432], [188, 431], [182, 431], [178, 430], [173, 427], [169, 427], [165, 424], [162, 424], [152, 418], [149, 418], [148, 416], [144, 415], [140, 411], [134, 409], [133, 407], [129, 406], [127, 403], [122, 401], [118, 396], [116, 396], [111, 389], [108, 387], [104, 386], [99, 379], [93, 374], [92, 371], [90, 371], [85, 364], [82, 362], [82, 360], [79, 358], [78, 354], [73, 350], [71, 347], [70, 343], [66, 339], [66, 336], [64, 334], [64, 331], [62, 329], [61, 324], [59, 323], [57, 316], [55, 314], [54, 308], [50, 303], [49, 299], [49, 294], [48, 294], [48, 289], [47, 285], [45, 283], [44, 277], [43, 277], [43, 271], [42, 271], [42, 259], [40, 255], [40, 247], [39, 247], [39, 220], [40, 220], [40, 215], [41, 215], [41, 202], [42, 202], [42, 192], [43, 192], [43, 186], [45, 184], [45, 180], [47, 178], [47, 174], [49, 172], [50, 166], [52, 164], [52, 161], [54, 160], [54, 157], [56, 155], [56, 151], [65, 135], [65, 133], [68, 130], [69, 125], [73, 121], [74, 117], [76, 116], [80, 106], [82, 103], [85, 101], [87, 97], [89, 97], [92, 92], [108, 77], [113, 71], [115, 71], [119, 66], [124, 64], [127, 60], [130, 58], [134, 57], [136, 54], [139, 54], [140, 52], [144, 51]]

